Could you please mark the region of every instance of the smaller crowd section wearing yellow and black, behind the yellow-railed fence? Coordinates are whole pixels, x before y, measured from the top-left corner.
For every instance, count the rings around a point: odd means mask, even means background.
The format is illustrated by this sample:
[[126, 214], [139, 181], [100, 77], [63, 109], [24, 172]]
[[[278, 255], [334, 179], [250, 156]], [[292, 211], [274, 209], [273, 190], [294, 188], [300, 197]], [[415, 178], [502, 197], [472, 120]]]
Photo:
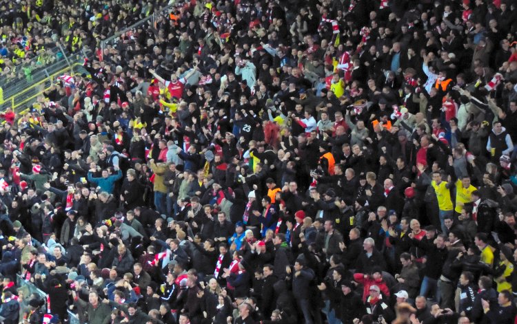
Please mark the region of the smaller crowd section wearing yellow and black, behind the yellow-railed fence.
[[0, 1], [0, 86], [31, 80], [34, 70], [159, 12], [167, 1]]

